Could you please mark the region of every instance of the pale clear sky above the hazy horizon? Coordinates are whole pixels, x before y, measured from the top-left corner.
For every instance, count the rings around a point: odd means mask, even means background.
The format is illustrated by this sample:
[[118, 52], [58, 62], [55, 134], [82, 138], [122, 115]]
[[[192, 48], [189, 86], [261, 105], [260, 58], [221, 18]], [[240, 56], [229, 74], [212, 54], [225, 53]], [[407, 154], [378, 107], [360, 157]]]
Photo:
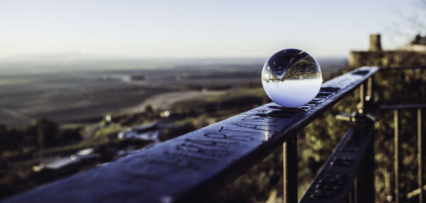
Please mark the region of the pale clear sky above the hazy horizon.
[[[415, 1], [0, 0], [0, 60], [25, 57], [268, 57], [284, 48], [314, 56], [408, 42]], [[426, 7], [426, 6], [425, 6]]]

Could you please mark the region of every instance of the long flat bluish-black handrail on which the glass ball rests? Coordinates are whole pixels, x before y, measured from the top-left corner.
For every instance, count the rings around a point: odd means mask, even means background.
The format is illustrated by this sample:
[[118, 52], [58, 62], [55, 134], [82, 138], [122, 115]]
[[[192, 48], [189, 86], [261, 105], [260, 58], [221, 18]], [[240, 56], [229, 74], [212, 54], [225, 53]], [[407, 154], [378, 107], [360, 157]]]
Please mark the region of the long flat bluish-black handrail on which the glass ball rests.
[[[304, 106], [265, 104], [6, 202], [200, 201], [290, 140], [376, 71], [378, 67], [360, 67], [324, 82], [317, 97]], [[351, 144], [348, 150], [356, 150]], [[337, 165], [347, 162], [352, 160], [334, 160]]]

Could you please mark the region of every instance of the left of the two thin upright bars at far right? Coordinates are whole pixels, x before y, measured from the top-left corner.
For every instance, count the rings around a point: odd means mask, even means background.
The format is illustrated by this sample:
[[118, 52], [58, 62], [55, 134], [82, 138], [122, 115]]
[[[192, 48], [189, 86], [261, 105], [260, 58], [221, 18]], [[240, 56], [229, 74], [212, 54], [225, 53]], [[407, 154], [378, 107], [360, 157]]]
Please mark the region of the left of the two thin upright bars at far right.
[[399, 136], [399, 110], [398, 109], [394, 109], [393, 110], [393, 124], [394, 126], [394, 130], [395, 130], [395, 202], [399, 203], [400, 202], [400, 190], [399, 190], [399, 178], [400, 178], [400, 136]]

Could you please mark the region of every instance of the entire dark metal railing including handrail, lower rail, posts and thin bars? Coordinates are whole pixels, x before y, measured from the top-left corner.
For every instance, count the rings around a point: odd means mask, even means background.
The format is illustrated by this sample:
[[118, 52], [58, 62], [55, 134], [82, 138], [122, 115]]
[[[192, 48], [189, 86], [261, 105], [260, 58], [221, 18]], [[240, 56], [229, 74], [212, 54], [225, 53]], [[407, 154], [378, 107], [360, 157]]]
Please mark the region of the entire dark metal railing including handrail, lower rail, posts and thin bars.
[[[394, 111], [395, 202], [417, 195], [423, 202], [422, 109], [426, 104], [374, 106], [372, 76], [378, 70], [360, 67], [324, 82], [317, 97], [304, 106], [286, 109], [265, 104], [5, 202], [204, 202], [281, 145], [284, 202], [297, 202], [297, 131], [357, 87], [358, 112], [336, 116], [349, 121], [349, 131], [300, 202], [375, 201], [374, 121], [378, 111], [389, 110]], [[417, 109], [418, 189], [406, 195], [400, 192], [399, 114], [403, 109]]]

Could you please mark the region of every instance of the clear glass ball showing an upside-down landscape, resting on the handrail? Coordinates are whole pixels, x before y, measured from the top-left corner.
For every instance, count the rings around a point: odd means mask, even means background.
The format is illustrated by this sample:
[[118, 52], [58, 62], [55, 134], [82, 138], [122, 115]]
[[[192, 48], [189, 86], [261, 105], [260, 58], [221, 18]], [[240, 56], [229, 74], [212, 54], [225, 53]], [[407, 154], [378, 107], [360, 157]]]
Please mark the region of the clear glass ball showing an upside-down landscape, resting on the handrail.
[[321, 84], [320, 65], [302, 50], [280, 50], [263, 66], [263, 89], [280, 106], [293, 108], [307, 104], [317, 96]]

